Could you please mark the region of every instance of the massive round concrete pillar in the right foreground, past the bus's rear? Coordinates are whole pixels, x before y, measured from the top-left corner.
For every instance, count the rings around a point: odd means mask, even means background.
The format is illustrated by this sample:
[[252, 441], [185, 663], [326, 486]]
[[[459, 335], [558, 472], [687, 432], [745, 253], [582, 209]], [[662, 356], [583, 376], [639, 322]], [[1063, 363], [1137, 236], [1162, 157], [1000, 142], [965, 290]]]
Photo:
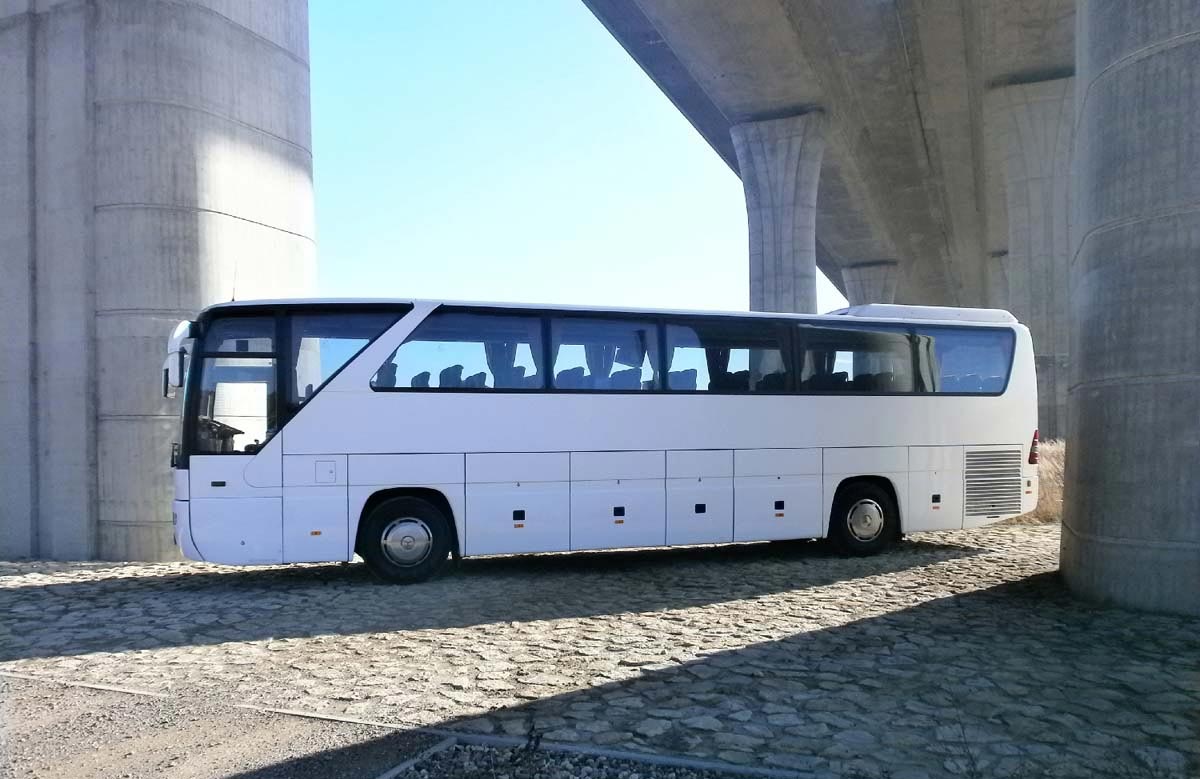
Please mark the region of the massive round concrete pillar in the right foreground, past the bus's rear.
[[1200, 616], [1200, 4], [1081, 0], [1062, 571]]

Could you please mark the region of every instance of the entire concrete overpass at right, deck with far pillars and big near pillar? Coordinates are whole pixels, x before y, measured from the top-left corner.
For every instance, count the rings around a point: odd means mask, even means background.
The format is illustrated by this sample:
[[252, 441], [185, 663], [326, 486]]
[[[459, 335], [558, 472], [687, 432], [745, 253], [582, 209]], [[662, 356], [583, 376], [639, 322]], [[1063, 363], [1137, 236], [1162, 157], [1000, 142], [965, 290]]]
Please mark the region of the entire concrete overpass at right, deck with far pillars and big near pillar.
[[1015, 313], [1068, 580], [1200, 613], [1200, 5], [583, 1], [742, 176], [752, 306]]

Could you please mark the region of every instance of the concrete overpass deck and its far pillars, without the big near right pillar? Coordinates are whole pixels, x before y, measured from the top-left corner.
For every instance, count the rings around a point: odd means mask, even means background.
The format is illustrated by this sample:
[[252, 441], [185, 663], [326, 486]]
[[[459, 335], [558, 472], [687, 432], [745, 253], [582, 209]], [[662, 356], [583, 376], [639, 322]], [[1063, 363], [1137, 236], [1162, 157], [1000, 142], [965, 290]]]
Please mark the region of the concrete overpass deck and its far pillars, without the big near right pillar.
[[1009, 308], [1066, 432], [1074, 0], [584, 1], [742, 175], [754, 307], [815, 305], [815, 263], [851, 302]]

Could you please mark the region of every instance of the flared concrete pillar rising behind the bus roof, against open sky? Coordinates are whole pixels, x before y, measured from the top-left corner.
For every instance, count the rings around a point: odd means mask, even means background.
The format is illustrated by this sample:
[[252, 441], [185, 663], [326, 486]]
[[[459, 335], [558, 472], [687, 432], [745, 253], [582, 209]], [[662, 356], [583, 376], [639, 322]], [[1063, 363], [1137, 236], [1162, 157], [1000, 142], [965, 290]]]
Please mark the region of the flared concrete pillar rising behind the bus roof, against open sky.
[[816, 311], [824, 121], [824, 114], [815, 112], [734, 125], [730, 131], [746, 193], [754, 311]]

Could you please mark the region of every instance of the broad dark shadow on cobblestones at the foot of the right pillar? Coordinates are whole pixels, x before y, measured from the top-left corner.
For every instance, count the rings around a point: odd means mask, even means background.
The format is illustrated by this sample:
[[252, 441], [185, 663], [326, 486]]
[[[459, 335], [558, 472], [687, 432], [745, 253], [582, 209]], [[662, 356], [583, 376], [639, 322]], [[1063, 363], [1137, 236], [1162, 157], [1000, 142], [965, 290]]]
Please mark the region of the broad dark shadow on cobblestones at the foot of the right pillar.
[[1092, 607], [1044, 574], [439, 727], [816, 775], [1182, 779], [1200, 621]]

